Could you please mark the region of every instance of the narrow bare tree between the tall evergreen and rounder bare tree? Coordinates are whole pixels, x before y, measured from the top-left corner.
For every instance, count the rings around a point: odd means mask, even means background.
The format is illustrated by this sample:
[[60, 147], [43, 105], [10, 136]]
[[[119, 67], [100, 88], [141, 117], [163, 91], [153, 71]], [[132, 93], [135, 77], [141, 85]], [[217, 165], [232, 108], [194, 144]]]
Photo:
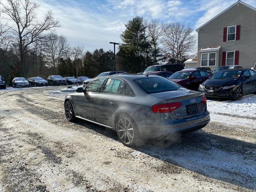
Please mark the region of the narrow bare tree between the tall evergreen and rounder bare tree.
[[154, 64], [157, 64], [157, 57], [160, 53], [159, 45], [162, 43], [164, 33], [168, 30], [170, 24], [162, 23], [159, 20], [147, 22], [147, 34], [151, 42], [151, 51]]

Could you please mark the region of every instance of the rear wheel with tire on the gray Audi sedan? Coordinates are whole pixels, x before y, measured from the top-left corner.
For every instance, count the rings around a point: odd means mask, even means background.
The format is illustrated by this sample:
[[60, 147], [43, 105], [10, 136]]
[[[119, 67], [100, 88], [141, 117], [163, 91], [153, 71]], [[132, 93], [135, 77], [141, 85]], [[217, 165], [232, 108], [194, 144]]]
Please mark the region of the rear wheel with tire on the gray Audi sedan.
[[116, 133], [118, 139], [127, 147], [136, 147], [142, 144], [140, 132], [133, 118], [125, 113], [116, 118]]

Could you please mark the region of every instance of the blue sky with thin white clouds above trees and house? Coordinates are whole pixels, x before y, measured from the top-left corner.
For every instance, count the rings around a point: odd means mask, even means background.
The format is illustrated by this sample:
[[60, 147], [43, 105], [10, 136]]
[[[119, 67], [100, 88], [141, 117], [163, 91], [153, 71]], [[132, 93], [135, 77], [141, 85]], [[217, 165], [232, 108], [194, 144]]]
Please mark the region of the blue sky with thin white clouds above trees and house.
[[[113, 49], [112, 42], [121, 42], [124, 24], [134, 16], [162, 22], [186, 22], [195, 29], [228, 8], [237, 0], [38, 0], [38, 18], [52, 10], [71, 45], [84, 50]], [[256, 0], [244, 0], [256, 7]]]

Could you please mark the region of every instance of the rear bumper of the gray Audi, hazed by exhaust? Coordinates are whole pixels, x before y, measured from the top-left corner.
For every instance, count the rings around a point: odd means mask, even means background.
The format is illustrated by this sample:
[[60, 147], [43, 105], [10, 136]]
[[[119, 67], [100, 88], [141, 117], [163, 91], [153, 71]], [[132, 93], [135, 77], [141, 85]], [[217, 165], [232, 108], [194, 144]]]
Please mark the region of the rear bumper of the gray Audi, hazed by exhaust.
[[210, 122], [210, 113], [203, 112], [200, 115], [184, 119], [165, 119], [161, 124], [138, 124], [140, 136], [147, 139], [162, 139], [171, 134], [186, 134], [204, 128]]

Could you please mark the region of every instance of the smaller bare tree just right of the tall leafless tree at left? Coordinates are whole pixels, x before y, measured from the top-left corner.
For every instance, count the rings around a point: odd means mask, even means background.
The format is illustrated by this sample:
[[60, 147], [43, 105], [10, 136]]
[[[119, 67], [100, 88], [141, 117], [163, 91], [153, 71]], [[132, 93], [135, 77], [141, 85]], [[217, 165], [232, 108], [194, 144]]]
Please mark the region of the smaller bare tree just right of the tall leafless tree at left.
[[66, 58], [69, 54], [70, 46], [68, 40], [64, 36], [58, 36], [57, 34], [50, 33], [47, 35], [48, 41], [45, 44], [44, 52], [48, 58], [48, 65], [56, 68], [60, 63], [60, 58]]

